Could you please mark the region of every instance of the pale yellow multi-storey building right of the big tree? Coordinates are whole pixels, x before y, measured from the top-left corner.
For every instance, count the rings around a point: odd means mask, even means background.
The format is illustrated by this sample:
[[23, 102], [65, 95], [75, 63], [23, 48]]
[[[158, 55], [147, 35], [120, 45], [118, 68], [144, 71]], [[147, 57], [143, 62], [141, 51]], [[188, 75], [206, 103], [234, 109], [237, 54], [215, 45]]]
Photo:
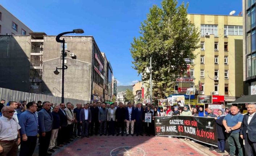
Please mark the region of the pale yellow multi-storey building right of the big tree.
[[176, 93], [196, 87], [196, 94], [224, 95], [226, 104], [243, 94], [243, 20], [241, 16], [188, 14], [201, 28], [201, 49], [187, 65], [187, 75], [177, 79]]

